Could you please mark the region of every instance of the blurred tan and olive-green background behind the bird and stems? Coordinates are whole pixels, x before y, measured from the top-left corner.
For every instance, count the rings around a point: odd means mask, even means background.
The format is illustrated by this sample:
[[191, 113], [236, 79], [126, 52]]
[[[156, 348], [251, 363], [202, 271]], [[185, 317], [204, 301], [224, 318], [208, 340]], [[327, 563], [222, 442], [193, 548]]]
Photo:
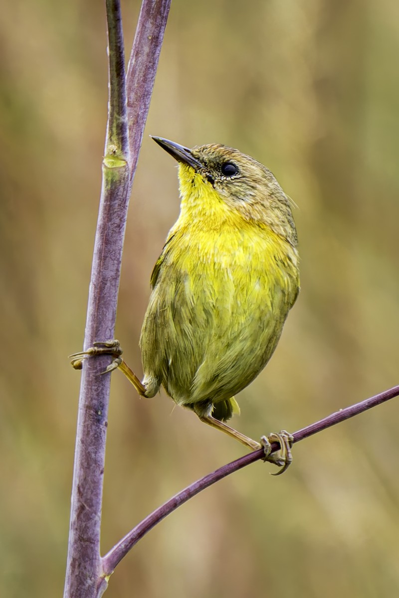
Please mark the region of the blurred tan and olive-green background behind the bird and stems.
[[[123, 3], [127, 52], [139, 2]], [[2, 6], [0, 587], [60, 596], [100, 191], [102, 2]], [[138, 374], [151, 269], [178, 214], [176, 169], [148, 135], [220, 142], [269, 166], [299, 206], [302, 290], [233, 425], [302, 428], [398, 383], [399, 8], [382, 0], [174, 0], [127, 224], [116, 336]], [[399, 593], [398, 399], [255, 463], [178, 509], [106, 596]], [[243, 453], [112, 377], [102, 550]]]

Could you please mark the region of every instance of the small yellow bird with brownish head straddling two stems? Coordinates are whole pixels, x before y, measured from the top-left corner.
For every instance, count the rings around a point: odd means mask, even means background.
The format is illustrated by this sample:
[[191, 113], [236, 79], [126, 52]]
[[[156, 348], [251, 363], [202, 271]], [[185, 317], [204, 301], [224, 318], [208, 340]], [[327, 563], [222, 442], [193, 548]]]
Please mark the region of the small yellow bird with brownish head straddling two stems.
[[[111, 352], [117, 358], [108, 371], [120, 367], [142, 396], [163, 386], [203, 422], [251, 449], [263, 446], [265, 459], [285, 471], [287, 432], [260, 444], [224, 422], [239, 413], [234, 395], [272, 356], [299, 292], [290, 202], [270, 170], [237, 149], [153, 139], [179, 163], [181, 210], [151, 276], [140, 340], [144, 379], [119, 357], [117, 341], [75, 354], [75, 366]], [[280, 455], [270, 454], [270, 441], [280, 443]]]

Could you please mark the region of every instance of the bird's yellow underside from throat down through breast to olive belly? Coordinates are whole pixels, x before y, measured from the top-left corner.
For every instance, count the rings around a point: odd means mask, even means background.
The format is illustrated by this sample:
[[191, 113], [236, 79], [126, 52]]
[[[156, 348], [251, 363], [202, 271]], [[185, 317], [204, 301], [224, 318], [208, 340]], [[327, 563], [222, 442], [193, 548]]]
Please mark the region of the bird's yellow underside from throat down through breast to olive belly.
[[229, 399], [269, 361], [299, 286], [296, 252], [181, 177], [181, 213], [142, 330], [145, 374], [179, 404]]

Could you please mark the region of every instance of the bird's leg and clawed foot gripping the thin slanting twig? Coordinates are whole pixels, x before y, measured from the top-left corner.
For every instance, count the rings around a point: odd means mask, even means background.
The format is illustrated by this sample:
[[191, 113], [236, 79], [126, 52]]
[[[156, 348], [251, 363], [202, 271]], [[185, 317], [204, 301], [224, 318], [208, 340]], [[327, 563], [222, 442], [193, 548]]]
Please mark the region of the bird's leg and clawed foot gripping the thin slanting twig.
[[[230, 437], [235, 438], [240, 443], [245, 444], [246, 447], [252, 450], [262, 449], [264, 451], [264, 461], [268, 461], [269, 463], [274, 463], [278, 467], [281, 467], [280, 471], [277, 474], [272, 475], [280, 475], [283, 474], [287, 468], [291, 465], [293, 460], [293, 456], [291, 454], [291, 447], [293, 446], [293, 436], [288, 434], [285, 430], [282, 430], [279, 434], [276, 432], [272, 432], [269, 434], [269, 437], [262, 436], [260, 443], [257, 443], [256, 440], [252, 440], [248, 436], [241, 434], [234, 428], [230, 428], [226, 423], [220, 422], [218, 419], [212, 416], [200, 416], [200, 420], [208, 424], [208, 426], [212, 426], [212, 428], [217, 428], [224, 434], [228, 434]], [[272, 453], [272, 443], [279, 443], [280, 450], [273, 451]]]

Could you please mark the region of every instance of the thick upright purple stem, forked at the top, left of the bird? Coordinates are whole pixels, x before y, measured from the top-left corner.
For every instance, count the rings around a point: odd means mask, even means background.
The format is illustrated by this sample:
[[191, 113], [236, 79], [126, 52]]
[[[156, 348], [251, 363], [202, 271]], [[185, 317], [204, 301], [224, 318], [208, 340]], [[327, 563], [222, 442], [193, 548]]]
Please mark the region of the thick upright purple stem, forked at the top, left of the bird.
[[[127, 207], [169, 7], [170, 0], [142, 3], [125, 79], [120, 2], [106, 0], [109, 110], [85, 350], [96, 340], [114, 337]], [[110, 375], [100, 373], [110, 360], [100, 356], [83, 364], [64, 598], [95, 598], [108, 584], [100, 557], [100, 521]]]

